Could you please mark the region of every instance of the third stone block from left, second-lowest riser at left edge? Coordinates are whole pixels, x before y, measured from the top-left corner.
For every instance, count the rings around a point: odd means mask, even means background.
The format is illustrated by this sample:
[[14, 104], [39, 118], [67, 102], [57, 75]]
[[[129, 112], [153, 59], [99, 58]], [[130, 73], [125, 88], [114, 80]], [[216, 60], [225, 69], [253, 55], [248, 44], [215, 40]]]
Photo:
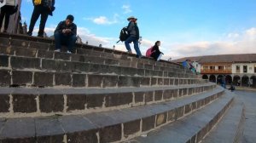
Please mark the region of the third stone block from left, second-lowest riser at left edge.
[[35, 72], [34, 73], [34, 84], [36, 86], [53, 86], [52, 72]]

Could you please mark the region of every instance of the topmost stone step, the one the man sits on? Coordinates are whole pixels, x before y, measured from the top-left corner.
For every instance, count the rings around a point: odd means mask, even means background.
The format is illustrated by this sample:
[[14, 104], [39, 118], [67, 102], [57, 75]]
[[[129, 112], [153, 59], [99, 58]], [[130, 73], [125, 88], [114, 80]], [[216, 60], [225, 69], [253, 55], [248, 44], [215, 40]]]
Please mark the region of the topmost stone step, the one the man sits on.
[[[48, 51], [53, 51], [55, 49], [54, 40], [49, 38], [40, 38], [40, 37], [27, 37], [24, 35], [9, 35], [0, 33], [0, 46], [2, 47], [23, 47], [29, 49], [44, 49]], [[77, 44], [76, 45], [76, 54], [89, 54], [89, 55], [96, 55], [102, 57], [110, 57], [110, 58], [117, 58], [122, 60], [137, 60], [135, 58], [135, 54], [127, 54], [123, 51], [117, 51], [113, 49], [104, 49], [99, 48], [96, 46], [91, 46], [87, 44]], [[132, 56], [131, 56], [132, 55]], [[155, 62], [151, 58], [143, 57], [140, 60], [143, 63], [149, 63], [155, 66], [172, 66], [175, 68], [184, 69], [181, 65], [177, 63], [173, 63], [166, 60], [161, 60], [160, 62]], [[188, 70], [189, 71], [189, 70]]]

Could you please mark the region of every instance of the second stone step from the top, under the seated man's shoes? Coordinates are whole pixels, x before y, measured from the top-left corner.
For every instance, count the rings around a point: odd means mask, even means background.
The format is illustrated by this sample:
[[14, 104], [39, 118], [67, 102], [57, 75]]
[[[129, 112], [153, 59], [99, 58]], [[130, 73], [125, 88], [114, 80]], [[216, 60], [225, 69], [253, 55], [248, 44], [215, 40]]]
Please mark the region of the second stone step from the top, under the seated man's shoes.
[[[114, 58], [108, 58], [105, 55], [95, 55], [91, 52], [84, 54], [67, 54], [62, 52], [48, 51], [44, 49], [27, 49], [27, 48], [17, 48], [17, 47], [0, 47], [1, 54], [25, 56], [32, 58], [43, 58], [48, 60], [65, 60], [65, 61], [77, 61], [84, 63], [95, 63], [101, 65], [112, 65], [112, 66], [124, 66], [124, 67], [134, 67], [139, 69], [148, 69], [156, 71], [166, 71], [166, 72], [180, 72], [192, 74], [186, 69], [176, 68], [175, 66], [160, 66], [155, 65], [155, 63], [143, 62], [143, 60], [124, 59], [119, 54], [113, 54]], [[5, 60], [6, 57], [2, 56], [0, 59]], [[124, 59], [124, 60], [123, 60]], [[161, 64], [160, 62], [158, 62]]]

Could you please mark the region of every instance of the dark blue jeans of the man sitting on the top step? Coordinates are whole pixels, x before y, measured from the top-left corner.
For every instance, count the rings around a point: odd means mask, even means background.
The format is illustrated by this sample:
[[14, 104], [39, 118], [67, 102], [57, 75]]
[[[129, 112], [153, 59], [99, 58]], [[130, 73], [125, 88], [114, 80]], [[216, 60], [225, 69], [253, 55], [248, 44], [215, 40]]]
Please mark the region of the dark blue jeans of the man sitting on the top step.
[[61, 44], [67, 45], [69, 51], [73, 51], [73, 46], [77, 41], [77, 37], [74, 35], [64, 35], [59, 32], [55, 32], [55, 49], [61, 49]]

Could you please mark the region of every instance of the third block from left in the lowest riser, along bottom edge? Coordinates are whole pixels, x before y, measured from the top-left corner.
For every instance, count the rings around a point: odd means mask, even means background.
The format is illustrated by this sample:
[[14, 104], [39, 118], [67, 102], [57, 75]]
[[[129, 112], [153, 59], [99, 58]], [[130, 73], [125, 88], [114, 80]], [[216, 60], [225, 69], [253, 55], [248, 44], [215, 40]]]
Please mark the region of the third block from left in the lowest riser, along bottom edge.
[[135, 134], [138, 131], [140, 131], [140, 123], [141, 120], [135, 120], [128, 123], [124, 123], [124, 135], [125, 137], [128, 137], [128, 135]]

